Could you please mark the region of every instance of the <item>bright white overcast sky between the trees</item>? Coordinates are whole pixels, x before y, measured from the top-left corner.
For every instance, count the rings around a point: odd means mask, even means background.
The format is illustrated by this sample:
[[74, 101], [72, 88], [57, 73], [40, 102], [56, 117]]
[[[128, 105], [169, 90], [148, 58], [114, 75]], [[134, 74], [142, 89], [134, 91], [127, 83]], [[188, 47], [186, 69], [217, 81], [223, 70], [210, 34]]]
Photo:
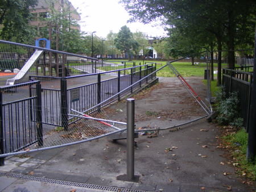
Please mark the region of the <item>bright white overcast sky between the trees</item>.
[[119, 0], [69, 0], [81, 13], [81, 31], [93, 32], [99, 37], [106, 37], [110, 31], [117, 33], [122, 26], [127, 26], [132, 32], [145, 32], [148, 36], [163, 36], [166, 34], [160, 26], [152, 24], [127, 23], [129, 14], [119, 4]]

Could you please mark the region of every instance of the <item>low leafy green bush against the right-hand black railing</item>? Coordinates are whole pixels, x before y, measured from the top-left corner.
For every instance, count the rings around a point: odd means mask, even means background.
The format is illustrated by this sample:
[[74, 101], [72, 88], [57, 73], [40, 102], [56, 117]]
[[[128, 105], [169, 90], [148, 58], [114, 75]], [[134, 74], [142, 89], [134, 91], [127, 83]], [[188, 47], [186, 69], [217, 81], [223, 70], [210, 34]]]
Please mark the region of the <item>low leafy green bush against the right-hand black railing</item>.
[[237, 92], [230, 93], [229, 97], [226, 97], [226, 93], [222, 87], [221, 91], [216, 94], [216, 111], [218, 112], [217, 122], [221, 126], [234, 126], [242, 127], [243, 119], [239, 114], [239, 99]]

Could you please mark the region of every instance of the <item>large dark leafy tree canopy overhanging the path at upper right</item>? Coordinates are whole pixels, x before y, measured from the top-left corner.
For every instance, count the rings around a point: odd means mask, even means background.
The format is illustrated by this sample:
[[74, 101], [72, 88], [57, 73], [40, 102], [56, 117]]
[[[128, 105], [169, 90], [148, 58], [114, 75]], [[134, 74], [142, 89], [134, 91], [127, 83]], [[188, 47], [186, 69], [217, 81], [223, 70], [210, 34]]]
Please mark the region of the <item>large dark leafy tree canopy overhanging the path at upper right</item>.
[[[216, 40], [219, 50], [218, 84], [221, 83], [222, 45], [225, 44], [229, 50], [234, 50], [239, 43], [238, 39], [247, 39], [248, 34], [254, 32], [256, 2], [253, 0], [246, 2], [243, 0], [121, 0], [121, 2], [132, 16], [130, 21], [150, 23], [152, 20], [164, 18], [163, 21], [169, 28], [176, 27], [181, 32], [187, 31], [201, 41]], [[207, 38], [201, 39], [203, 36]], [[230, 68], [234, 67], [234, 51], [228, 53], [228, 64]]]

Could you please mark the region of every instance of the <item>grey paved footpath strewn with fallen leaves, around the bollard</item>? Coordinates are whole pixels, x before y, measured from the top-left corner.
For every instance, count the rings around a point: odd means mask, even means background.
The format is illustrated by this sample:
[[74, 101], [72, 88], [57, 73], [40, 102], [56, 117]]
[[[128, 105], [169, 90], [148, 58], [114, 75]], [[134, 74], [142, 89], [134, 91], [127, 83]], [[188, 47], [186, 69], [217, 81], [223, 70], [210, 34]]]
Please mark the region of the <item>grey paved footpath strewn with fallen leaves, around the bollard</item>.
[[[205, 92], [200, 78], [189, 78], [188, 82], [200, 95]], [[135, 101], [137, 127], [168, 127], [204, 114], [183, 88], [176, 78], [160, 78], [156, 89]], [[125, 116], [123, 105], [119, 103], [114, 108], [122, 109], [118, 111], [123, 111], [122, 116]], [[157, 115], [146, 115], [152, 111]], [[126, 140], [113, 143], [105, 137], [66, 148], [29, 153], [25, 158], [10, 157], [6, 165], [0, 167], [0, 191], [255, 189], [236, 176], [233, 165], [224, 157], [225, 152], [217, 148], [218, 135], [216, 125], [201, 119], [176, 130], [160, 131], [156, 137], [139, 136], [135, 147], [135, 175], [139, 176], [139, 182], [117, 180], [117, 176], [126, 173]]]

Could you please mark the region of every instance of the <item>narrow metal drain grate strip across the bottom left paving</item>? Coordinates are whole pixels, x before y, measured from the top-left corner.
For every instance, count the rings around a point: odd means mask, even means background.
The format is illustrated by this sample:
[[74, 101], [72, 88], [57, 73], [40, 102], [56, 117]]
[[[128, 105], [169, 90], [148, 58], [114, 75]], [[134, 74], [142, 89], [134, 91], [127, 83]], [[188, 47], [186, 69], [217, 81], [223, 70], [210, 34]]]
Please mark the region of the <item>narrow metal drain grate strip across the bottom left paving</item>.
[[66, 185], [66, 186], [72, 186], [72, 187], [84, 187], [87, 189], [113, 191], [113, 192], [148, 192], [148, 191], [137, 190], [137, 189], [125, 189], [122, 187], [101, 186], [101, 185], [94, 185], [89, 183], [79, 183], [79, 182], [71, 182], [71, 181], [53, 180], [53, 179], [42, 178], [42, 177], [25, 176], [19, 173], [0, 172], [0, 177], [1, 176], [20, 178], [20, 179], [29, 180], [29, 181], [39, 181], [39, 182], [53, 183], [53, 184], [59, 184], [59, 185]]

